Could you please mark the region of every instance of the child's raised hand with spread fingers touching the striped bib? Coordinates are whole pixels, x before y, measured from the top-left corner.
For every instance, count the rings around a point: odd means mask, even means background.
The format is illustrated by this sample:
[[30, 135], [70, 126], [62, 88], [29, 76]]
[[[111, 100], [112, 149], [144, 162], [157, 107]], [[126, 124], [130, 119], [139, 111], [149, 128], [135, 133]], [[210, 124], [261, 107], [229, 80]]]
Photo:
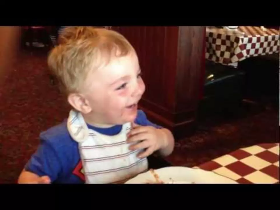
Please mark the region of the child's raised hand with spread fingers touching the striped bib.
[[152, 126], [140, 126], [133, 124], [133, 129], [127, 134], [127, 142], [139, 142], [129, 147], [130, 150], [145, 149], [144, 152], [138, 154], [139, 158], [144, 158], [151, 155], [154, 151], [157, 151], [165, 147], [166, 143], [163, 138], [163, 133], [160, 129], [156, 129]]

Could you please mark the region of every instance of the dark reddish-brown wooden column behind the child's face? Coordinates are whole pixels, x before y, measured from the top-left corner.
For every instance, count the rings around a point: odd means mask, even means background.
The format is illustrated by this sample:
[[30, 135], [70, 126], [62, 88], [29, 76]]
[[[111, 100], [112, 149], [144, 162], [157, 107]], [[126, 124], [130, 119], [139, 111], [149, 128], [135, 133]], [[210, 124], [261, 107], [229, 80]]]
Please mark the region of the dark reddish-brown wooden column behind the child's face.
[[176, 138], [193, 131], [201, 90], [205, 27], [112, 27], [135, 47], [146, 91], [139, 103], [148, 118]]

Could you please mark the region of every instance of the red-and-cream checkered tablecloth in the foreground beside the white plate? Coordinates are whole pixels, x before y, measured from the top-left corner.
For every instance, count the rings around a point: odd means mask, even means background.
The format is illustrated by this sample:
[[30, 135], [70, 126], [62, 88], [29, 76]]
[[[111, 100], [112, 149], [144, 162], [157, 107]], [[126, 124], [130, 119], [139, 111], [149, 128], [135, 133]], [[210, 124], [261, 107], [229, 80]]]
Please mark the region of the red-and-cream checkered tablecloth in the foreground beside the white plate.
[[198, 167], [238, 183], [279, 183], [279, 143], [241, 148]]

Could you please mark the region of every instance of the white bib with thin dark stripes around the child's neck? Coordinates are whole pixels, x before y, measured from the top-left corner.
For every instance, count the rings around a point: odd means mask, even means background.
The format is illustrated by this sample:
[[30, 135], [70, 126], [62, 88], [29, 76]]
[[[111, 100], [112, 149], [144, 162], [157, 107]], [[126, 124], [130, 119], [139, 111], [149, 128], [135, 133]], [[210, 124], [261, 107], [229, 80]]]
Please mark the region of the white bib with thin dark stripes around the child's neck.
[[88, 129], [81, 113], [71, 110], [67, 129], [79, 143], [86, 183], [122, 183], [147, 171], [147, 158], [136, 156], [143, 150], [128, 149], [126, 134], [131, 130], [130, 123], [124, 124], [119, 134], [107, 136]]

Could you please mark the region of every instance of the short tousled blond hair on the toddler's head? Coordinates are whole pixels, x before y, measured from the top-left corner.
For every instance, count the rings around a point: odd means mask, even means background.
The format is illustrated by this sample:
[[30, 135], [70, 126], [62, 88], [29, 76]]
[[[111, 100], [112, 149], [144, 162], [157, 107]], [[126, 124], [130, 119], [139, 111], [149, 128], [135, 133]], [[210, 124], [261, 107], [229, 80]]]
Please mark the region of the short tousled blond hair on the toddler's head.
[[79, 92], [89, 72], [102, 68], [113, 57], [135, 52], [123, 35], [95, 27], [67, 27], [48, 57], [49, 69], [67, 95]]

